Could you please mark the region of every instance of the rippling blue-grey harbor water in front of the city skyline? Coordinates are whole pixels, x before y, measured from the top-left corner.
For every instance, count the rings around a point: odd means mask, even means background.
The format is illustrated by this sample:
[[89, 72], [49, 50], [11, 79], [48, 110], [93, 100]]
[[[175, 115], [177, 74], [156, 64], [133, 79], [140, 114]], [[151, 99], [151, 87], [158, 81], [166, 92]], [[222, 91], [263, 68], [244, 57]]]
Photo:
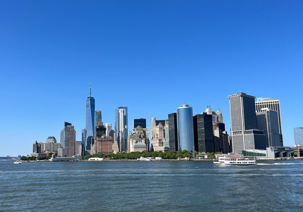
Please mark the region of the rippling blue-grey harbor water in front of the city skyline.
[[0, 211], [303, 211], [303, 161], [0, 161]]

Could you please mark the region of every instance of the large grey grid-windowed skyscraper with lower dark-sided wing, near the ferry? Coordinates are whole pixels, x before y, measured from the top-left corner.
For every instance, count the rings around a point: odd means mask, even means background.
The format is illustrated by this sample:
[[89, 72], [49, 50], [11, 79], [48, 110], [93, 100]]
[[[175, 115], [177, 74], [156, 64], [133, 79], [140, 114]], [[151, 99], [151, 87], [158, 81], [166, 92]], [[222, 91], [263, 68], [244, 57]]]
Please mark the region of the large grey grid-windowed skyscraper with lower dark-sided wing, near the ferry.
[[257, 130], [255, 97], [239, 92], [228, 96], [231, 120], [232, 150], [265, 149], [266, 136]]

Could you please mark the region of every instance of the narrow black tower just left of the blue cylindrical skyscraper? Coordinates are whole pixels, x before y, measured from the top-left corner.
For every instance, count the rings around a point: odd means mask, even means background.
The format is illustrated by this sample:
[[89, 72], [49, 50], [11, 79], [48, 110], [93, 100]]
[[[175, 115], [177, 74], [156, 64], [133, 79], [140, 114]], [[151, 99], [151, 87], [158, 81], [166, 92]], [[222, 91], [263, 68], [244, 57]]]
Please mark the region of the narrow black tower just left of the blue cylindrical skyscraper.
[[169, 150], [178, 150], [178, 127], [177, 127], [177, 112], [168, 114], [168, 141]]

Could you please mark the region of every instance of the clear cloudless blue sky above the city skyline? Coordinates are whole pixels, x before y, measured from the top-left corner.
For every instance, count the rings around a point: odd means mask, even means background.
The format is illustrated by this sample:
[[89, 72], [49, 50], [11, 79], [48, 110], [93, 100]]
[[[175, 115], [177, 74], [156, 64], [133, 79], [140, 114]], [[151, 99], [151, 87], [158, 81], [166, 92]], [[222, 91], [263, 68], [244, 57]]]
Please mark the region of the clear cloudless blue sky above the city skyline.
[[228, 95], [280, 99], [285, 145], [303, 126], [302, 1], [1, 1], [0, 156], [26, 155], [63, 122], [85, 127], [92, 96], [103, 122], [115, 108], [167, 119]]

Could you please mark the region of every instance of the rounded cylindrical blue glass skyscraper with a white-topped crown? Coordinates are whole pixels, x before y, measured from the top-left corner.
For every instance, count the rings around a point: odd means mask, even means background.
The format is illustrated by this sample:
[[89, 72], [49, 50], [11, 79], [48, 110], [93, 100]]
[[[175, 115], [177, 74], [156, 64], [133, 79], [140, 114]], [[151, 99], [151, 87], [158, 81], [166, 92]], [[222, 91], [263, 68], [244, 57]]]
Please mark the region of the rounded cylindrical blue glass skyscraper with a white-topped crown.
[[193, 151], [194, 126], [192, 107], [182, 104], [177, 108], [178, 146], [181, 150]]

